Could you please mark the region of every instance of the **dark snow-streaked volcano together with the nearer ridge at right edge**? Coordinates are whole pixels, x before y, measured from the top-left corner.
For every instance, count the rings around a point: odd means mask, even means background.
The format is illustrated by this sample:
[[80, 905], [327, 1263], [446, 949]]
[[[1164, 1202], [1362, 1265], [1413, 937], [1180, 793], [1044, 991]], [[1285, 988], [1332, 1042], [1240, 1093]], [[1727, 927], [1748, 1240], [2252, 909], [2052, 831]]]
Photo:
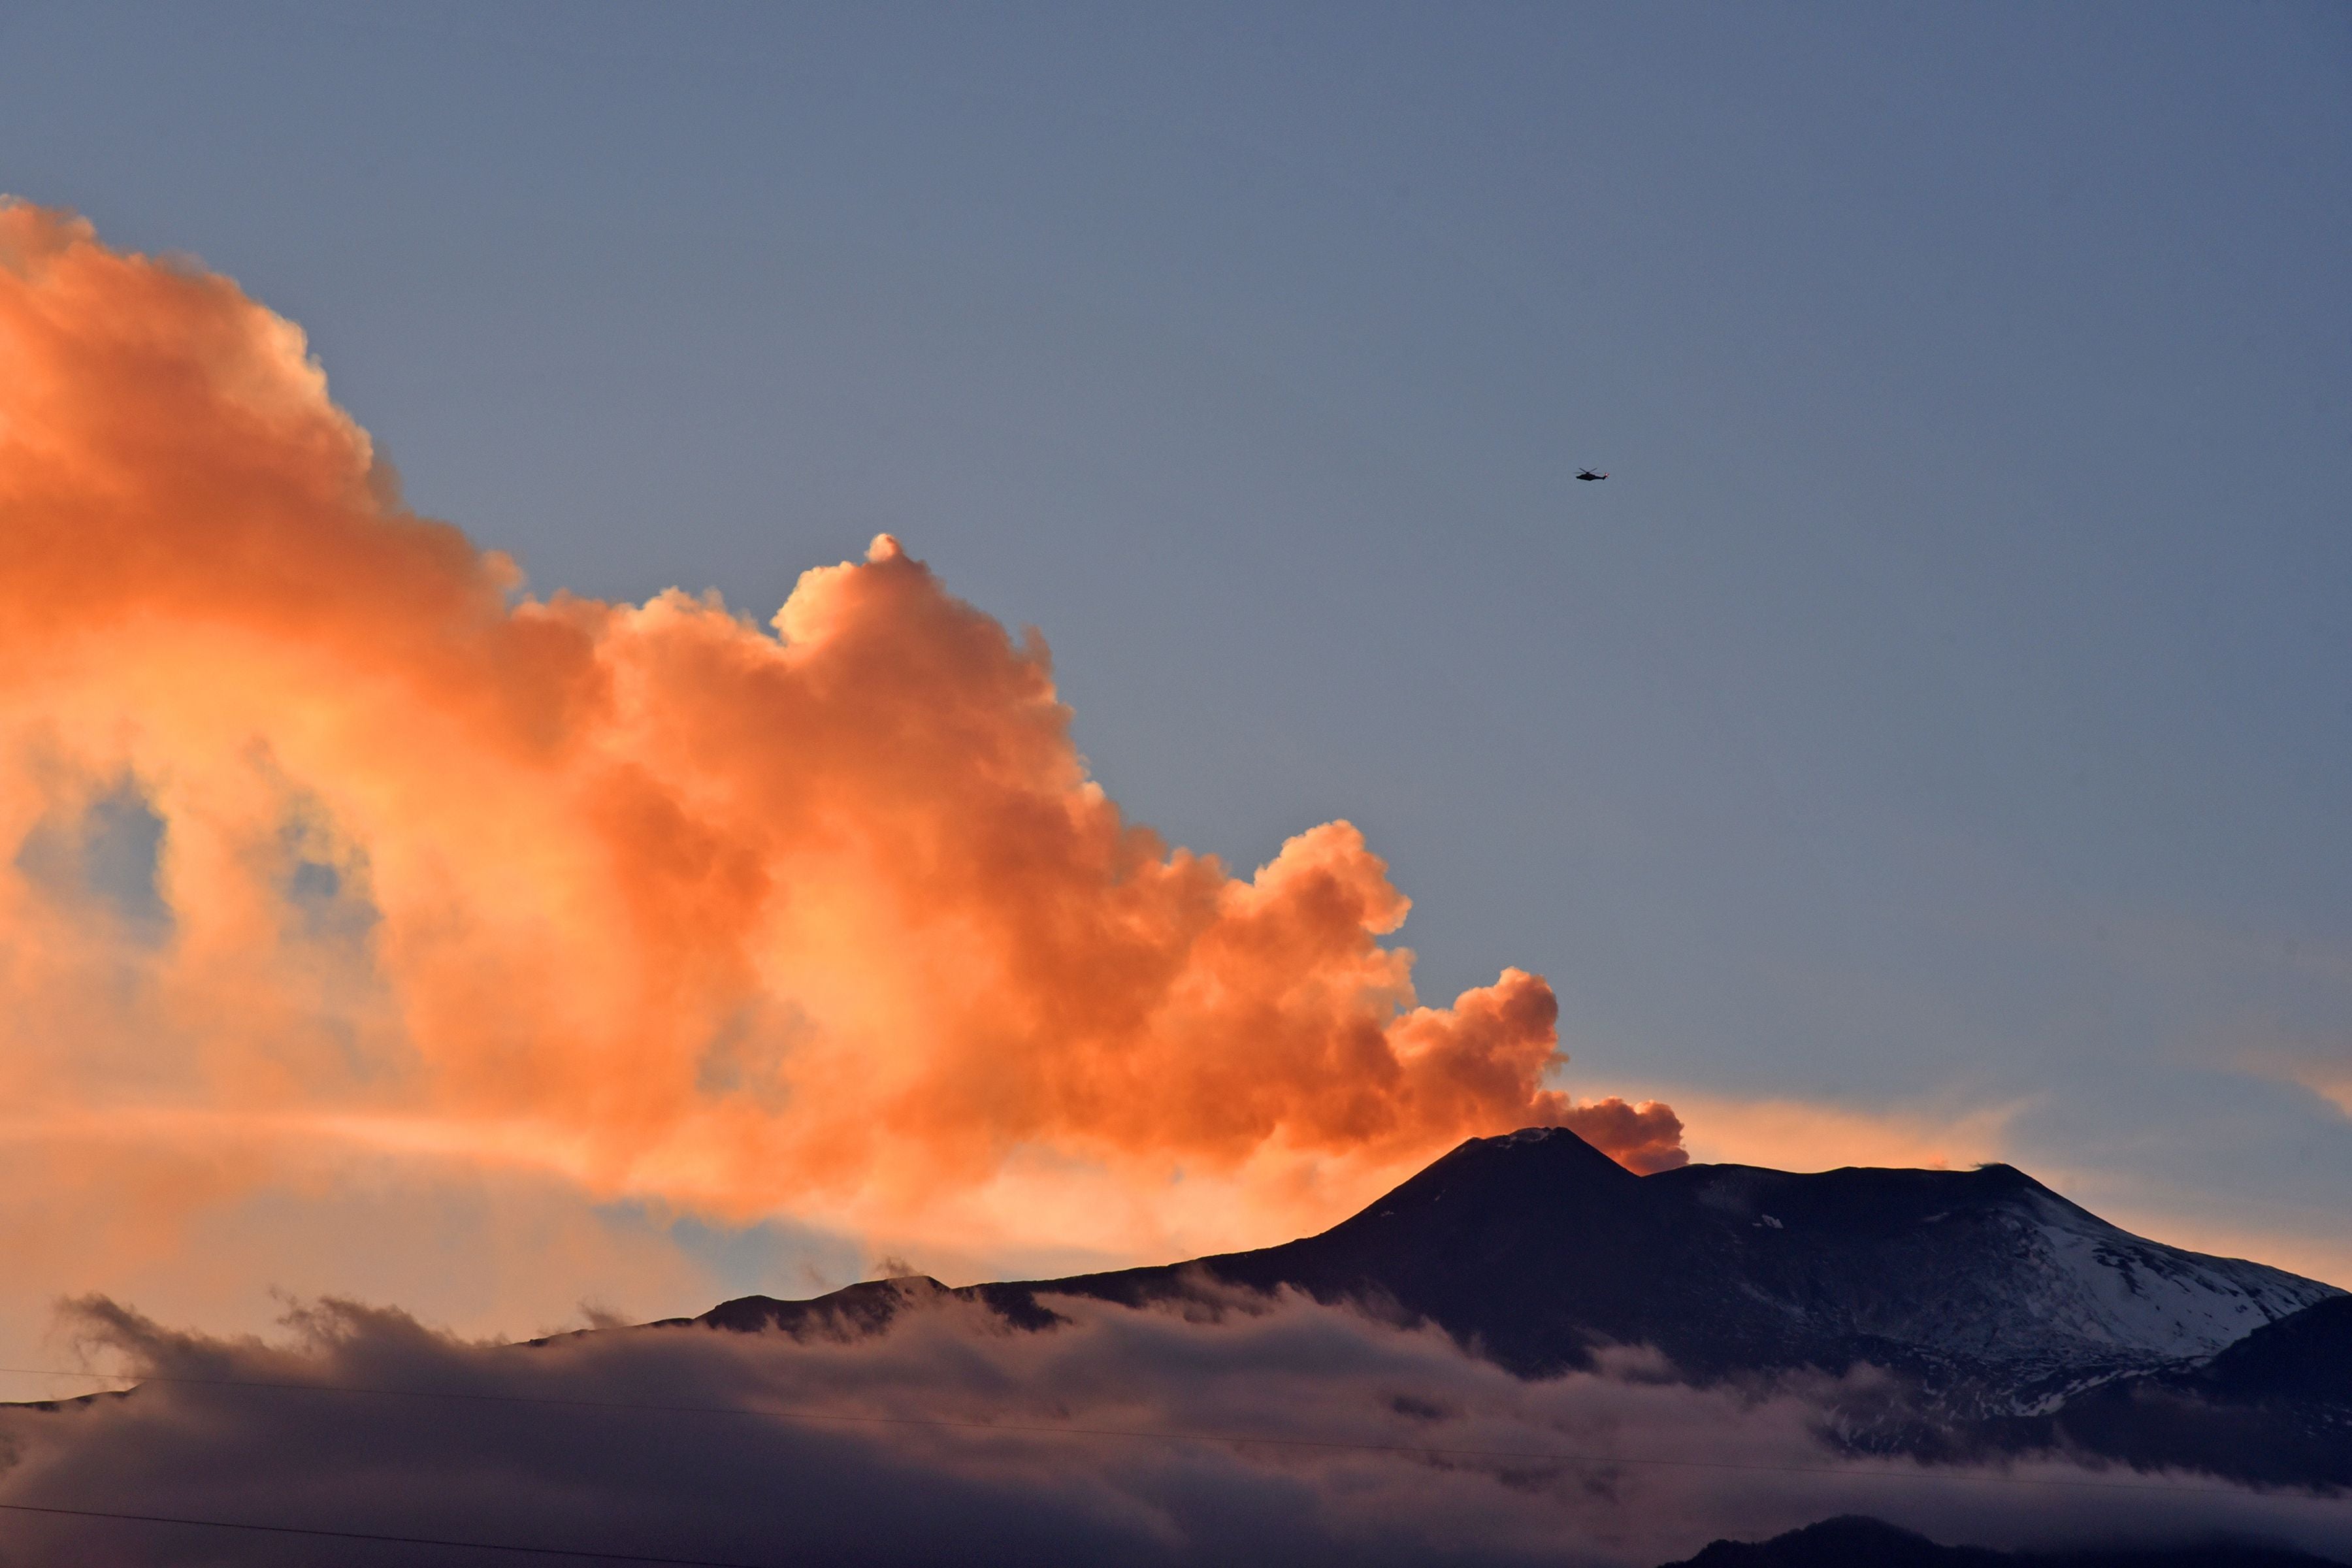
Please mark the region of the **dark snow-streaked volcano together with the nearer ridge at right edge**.
[[1148, 1305], [1294, 1288], [1442, 1326], [1522, 1375], [1649, 1345], [1693, 1380], [1879, 1366], [1837, 1410], [1865, 1450], [2074, 1448], [2352, 1486], [2352, 1298], [2133, 1237], [2013, 1166], [1632, 1175], [1564, 1128], [1472, 1138], [1331, 1229], [1249, 1253], [948, 1291], [866, 1281], [696, 1321], [854, 1338], [929, 1298], [1016, 1326], [1056, 1295]]

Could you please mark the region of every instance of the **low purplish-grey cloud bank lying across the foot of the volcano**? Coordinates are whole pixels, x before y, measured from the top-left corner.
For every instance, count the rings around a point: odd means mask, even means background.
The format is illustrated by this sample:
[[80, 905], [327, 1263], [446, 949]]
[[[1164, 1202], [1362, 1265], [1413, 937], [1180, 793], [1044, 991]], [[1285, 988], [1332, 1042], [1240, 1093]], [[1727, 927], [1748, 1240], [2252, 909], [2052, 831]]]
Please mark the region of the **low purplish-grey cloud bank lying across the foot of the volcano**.
[[[1696, 1389], [1618, 1352], [1522, 1382], [1435, 1331], [1298, 1298], [1061, 1309], [1051, 1333], [950, 1300], [858, 1342], [494, 1347], [348, 1302], [263, 1345], [87, 1300], [78, 1338], [153, 1380], [0, 1410], [0, 1502], [779, 1566], [1649, 1568], [1849, 1512], [2011, 1547], [2232, 1530], [2352, 1552], [2340, 1502], [2201, 1476], [1856, 1460], [1823, 1436], [1835, 1406], [1872, 1401], [1856, 1378]], [[28, 1568], [430, 1556], [40, 1514], [7, 1540]]]

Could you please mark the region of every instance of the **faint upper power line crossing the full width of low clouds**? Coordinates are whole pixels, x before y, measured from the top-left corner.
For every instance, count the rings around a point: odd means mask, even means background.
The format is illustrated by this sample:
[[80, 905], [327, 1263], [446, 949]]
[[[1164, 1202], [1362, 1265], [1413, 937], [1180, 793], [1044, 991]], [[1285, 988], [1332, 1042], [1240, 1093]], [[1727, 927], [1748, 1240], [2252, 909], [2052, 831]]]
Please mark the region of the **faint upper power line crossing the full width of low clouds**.
[[[125, 1382], [120, 1373], [75, 1373], [64, 1368], [42, 1366], [0, 1366], [0, 1373], [16, 1373], [28, 1378], [92, 1378]], [[1157, 1443], [1235, 1443], [1254, 1448], [1315, 1448], [1315, 1450], [1343, 1450], [1343, 1453], [1392, 1453], [1411, 1458], [1444, 1458], [1444, 1460], [1519, 1460], [1519, 1462], [1550, 1462], [1550, 1465], [1649, 1465], [1668, 1469], [1731, 1469], [1731, 1472], [1762, 1472], [1762, 1474], [1788, 1474], [1788, 1476], [1856, 1476], [1867, 1481], [1943, 1481], [1962, 1486], [2056, 1486], [2074, 1490], [2122, 1490], [2122, 1493], [2166, 1493], [2166, 1495], [2216, 1495], [2237, 1497], [2246, 1488], [2239, 1486], [2166, 1486], [2159, 1481], [2093, 1481], [2072, 1476], [2006, 1476], [1985, 1472], [1952, 1472], [1952, 1469], [1882, 1469], [1863, 1465], [1759, 1465], [1748, 1460], [1670, 1460], [1656, 1455], [1611, 1455], [1611, 1453], [1559, 1453], [1541, 1448], [1456, 1448], [1442, 1443], [1364, 1443], [1350, 1439], [1315, 1439], [1315, 1436], [1258, 1436], [1247, 1432], [1183, 1432], [1183, 1429], [1150, 1429], [1150, 1427], [1070, 1427], [1054, 1422], [1000, 1422], [1000, 1420], [955, 1420], [946, 1415], [851, 1415], [842, 1410], [807, 1410], [795, 1406], [708, 1406], [708, 1403], [652, 1403], [652, 1401], [628, 1401], [628, 1399], [567, 1399], [553, 1394], [487, 1394], [477, 1389], [388, 1389], [353, 1382], [275, 1382], [261, 1378], [176, 1378], [176, 1375], [146, 1375], [139, 1382], [165, 1382], [186, 1387], [223, 1387], [223, 1389], [261, 1389], [278, 1394], [360, 1394], [374, 1399], [454, 1399], [454, 1401], [480, 1401], [480, 1403], [517, 1403], [517, 1406], [553, 1406], [553, 1408], [576, 1408], [576, 1410], [642, 1410], [659, 1415], [736, 1415], [736, 1418], [762, 1418], [781, 1422], [809, 1422], [809, 1425], [858, 1425], [858, 1427], [938, 1427], [948, 1432], [1000, 1432], [1021, 1436], [1108, 1436], [1129, 1441], [1157, 1441]], [[101, 1389], [108, 1394], [127, 1394], [129, 1389]], [[2328, 1502], [2340, 1505], [2345, 1497], [2312, 1495], [2312, 1493], [2267, 1493], [2274, 1497], [2291, 1497], [2296, 1502]], [[659, 1561], [659, 1559], [649, 1559]]]

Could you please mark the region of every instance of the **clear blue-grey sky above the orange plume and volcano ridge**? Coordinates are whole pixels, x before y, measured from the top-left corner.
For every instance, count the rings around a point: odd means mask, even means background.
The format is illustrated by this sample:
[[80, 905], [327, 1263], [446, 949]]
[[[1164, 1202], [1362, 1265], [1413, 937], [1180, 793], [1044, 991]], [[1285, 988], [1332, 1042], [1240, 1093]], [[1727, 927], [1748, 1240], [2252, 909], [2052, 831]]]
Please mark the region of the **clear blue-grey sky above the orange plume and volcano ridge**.
[[12, 0], [0, 188], [534, 590], [903, 536], [1571, 1088], [1992, 1117], [2352, 1284], [2343, 7]]

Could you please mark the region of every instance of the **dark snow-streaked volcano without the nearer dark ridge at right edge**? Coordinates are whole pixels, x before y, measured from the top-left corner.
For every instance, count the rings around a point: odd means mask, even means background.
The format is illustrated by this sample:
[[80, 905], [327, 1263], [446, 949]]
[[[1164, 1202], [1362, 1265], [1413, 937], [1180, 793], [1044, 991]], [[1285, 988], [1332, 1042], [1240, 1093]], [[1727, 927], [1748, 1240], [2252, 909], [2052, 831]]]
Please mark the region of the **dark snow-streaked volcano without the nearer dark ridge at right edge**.
[[[1207, 1281], [1428, 1319], [1524, 1375], [1588, 1366], [1602, 1345], [1653, 1345], [1693, 1378], [1875, 1363], [1955, 1415], [2046, 1413], [2338, 1295], [2145, 1241], [2011, 1166], [1632, 1175], [1564, 1128], [1472, 1138], [1301, 1241], [960, 1295], [1047, 1324], [1051, 1295], [1143, 1305]], [[750, 1295], [703, 1321], [856, 1333], [936, 1288]]]

